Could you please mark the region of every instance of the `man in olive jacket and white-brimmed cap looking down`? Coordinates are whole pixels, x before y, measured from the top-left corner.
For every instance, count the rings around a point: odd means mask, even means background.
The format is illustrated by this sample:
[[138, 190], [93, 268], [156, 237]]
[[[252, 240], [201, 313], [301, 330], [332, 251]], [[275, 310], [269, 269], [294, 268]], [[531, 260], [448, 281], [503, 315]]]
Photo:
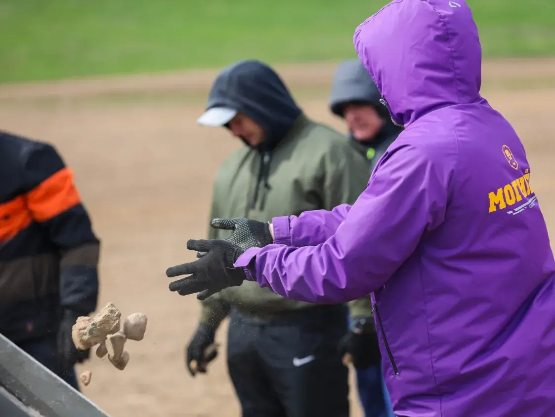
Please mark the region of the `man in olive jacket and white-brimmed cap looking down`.
[[[220, 166], [211, 219], [269, 221], [331, 210], [352, 204], [366, 187], [365, 157], [345, 136], [310, 120], [279, 75], [259, 61], [240, 61], [216, 77], [198, 123], [225, 126], [245, 143]], [[209, 228], [210, 239], [229, 236], [217, 220], [212, 226], [218, 228]], [[350, 307], [353, 316], [370, 316], [369, 297]], [[186, 349], [189, 372], [206, 372], [216, 356], [216, 329], [229, 315], [228, 368], [243, 416], [347, 417], [348, 369], [341, 356], [347, 313], [343, 304], [288, 300], [255, 282], [225, 288], [203, 301]], [[373, 339], [362, 340], [379, 355]]]

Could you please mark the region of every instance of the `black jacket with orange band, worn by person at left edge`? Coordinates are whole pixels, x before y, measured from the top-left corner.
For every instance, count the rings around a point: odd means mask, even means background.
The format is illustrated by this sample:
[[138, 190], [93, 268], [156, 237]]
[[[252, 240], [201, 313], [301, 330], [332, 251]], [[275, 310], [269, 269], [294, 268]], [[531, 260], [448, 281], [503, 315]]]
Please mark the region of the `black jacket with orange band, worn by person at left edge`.
[[0, 333], [56, 334], [97, 307], [99, 240], [72, 171], [47, 143], [0, 131]]

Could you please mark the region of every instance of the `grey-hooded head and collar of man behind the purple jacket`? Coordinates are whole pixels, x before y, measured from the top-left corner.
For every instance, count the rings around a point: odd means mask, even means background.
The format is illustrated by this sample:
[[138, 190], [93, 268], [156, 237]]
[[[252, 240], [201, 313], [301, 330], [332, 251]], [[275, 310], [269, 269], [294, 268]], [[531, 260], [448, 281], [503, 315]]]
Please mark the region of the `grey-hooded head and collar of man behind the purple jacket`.
[[345, 120], [349, 138], [360, 144], [370, 171], [403, 130], [395, 125], [381, 94], [359, 59], [341, 62], [335, 72], [330, 110]]

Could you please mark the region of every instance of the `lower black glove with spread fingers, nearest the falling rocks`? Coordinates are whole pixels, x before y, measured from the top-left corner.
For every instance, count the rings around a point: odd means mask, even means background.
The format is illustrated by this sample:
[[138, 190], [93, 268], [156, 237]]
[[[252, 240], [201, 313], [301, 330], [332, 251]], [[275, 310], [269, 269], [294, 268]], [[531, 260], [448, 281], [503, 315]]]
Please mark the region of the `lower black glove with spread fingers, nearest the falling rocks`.
[[191, 274], [189, 277], [170, 282], [170, 291], [177, 291], [181, 296], [199, 292], [196, 298], [203, 300], [224, 288], [238, 287], [245, 280], [243, 268], [233, 267], [244, 252], [235, 243], [220, 239], [189, 240], [187, 248], [206, 252], [206, 255], [194, 262], [168, 268], [168, 277]]

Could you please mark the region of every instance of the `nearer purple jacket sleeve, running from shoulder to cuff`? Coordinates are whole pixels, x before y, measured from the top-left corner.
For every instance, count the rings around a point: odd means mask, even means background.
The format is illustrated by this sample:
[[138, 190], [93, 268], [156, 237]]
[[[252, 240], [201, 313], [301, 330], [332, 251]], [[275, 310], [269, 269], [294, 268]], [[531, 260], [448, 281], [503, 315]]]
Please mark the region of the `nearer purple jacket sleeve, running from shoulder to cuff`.
[[[340, 223], [325, 242], [250, 248], [235, 266], [245, 267], [247, 279], [261, 287], [300, 301], [342, 303], [374, 292], [415, 251], [423, 233], [442, 223], [447, 165], [415, 146], [397, 145], [379, 162], [344, 221], [324, 215], [332, 227]], [[321, 225], [315, 230], [325, 234]]]

